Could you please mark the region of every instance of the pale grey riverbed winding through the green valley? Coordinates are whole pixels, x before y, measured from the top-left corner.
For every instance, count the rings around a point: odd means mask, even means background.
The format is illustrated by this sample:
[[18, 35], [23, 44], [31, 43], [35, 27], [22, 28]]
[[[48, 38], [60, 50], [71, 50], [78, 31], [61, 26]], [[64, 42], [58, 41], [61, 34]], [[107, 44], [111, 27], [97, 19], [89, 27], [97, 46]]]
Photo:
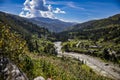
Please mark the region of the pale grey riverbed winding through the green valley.
[[56, 47], [56, 51], [58, 52], [58, 57], [61, 56], [69, 56], [73, 58], [77, 58], [80, 61], [83, 61], [87, 66], [92, 68], [96, 73], [101, 74], [103, 76], [111, 77], [115, 80], [120, 80], [120, 67], [117, 65], [113, 65], [112, 63], [106, 63], [102, 60], [92, 57], [85, 54], [79, 54], [75, 52], [64, 52], [61, 51], [61, 42], [54, 43]]

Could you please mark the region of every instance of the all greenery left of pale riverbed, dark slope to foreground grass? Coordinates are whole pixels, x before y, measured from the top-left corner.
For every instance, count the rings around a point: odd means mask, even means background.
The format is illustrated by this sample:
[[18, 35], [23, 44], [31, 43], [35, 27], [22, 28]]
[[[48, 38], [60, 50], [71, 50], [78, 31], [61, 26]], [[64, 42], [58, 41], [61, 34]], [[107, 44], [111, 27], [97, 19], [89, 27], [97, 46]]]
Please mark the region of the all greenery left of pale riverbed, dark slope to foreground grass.
[[[0, 58], [9, 58], [30, 80], [37, 76], [53, 80], [111, 80], [81, 61], [56, 57], [51, 42], [54, 38], [47, 29], [18, 16], [0, 13]], [[0, 79], [6, 80], [3, 76]]]

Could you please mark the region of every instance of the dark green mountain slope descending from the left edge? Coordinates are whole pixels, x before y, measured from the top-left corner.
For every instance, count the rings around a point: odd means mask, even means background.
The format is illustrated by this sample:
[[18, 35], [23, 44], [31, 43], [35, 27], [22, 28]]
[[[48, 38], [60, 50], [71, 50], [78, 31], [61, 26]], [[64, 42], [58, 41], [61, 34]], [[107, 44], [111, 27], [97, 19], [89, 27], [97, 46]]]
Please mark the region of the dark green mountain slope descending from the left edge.
[[16, 15], [0, 12], [0, 21], [8, 26], [11, 26], [12, 30], [25, 36], [37, 34], [41, 37], [42, 35], [50, 34], [47, 29], [39, 27], [31, 22], [28, 22], [25, 18]]

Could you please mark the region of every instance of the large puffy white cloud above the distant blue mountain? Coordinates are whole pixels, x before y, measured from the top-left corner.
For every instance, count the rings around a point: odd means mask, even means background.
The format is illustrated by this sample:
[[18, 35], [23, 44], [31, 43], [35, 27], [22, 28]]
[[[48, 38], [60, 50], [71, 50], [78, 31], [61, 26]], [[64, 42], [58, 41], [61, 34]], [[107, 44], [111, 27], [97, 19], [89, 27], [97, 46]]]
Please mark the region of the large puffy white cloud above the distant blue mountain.
[[55, 18], [54, 14], [64, 14], [60, 8], [55, 10], [51, 5], [46, 4], [46, 0], [26, 0], [24, 2], [24, 8], [19, 14], [22, 17], [46, 17]]

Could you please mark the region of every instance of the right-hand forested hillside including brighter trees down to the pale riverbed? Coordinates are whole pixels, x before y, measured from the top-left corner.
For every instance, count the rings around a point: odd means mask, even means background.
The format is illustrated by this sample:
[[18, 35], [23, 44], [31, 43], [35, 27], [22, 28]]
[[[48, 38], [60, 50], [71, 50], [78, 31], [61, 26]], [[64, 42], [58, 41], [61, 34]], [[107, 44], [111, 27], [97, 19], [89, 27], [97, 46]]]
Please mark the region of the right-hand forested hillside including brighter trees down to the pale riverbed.
[[63, 49], [120, 63], [120, 14], [73, 26], [59, 34]]

